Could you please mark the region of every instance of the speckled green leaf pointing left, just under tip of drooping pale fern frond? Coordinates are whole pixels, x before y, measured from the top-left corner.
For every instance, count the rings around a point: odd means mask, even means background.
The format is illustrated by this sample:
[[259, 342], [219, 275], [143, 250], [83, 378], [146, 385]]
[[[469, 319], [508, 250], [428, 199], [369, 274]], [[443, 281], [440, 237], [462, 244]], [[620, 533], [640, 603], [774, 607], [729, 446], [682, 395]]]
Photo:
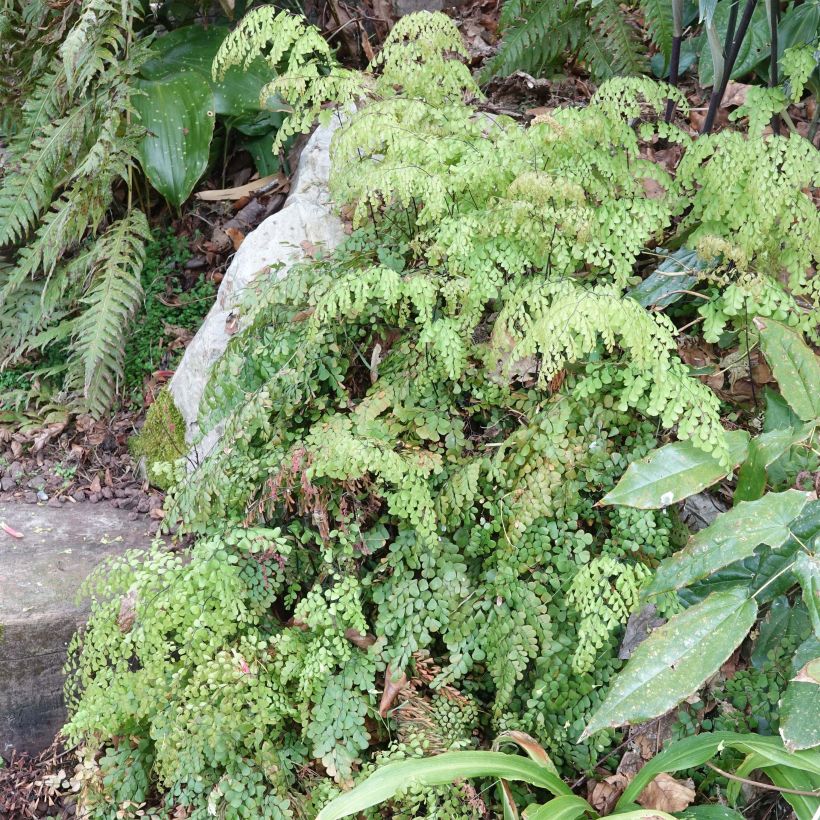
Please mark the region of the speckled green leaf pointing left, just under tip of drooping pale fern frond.
[[[749, 434], [745, 430], [726, 433], [726, 446], [732, 464], [740, 464], [749, 450]], [[726, 474], [726, 468], [708, 453], [689, 441], [676, 441], [633, 461], [601, 503], [643, 510], [668, 507], [710, 487]]]

